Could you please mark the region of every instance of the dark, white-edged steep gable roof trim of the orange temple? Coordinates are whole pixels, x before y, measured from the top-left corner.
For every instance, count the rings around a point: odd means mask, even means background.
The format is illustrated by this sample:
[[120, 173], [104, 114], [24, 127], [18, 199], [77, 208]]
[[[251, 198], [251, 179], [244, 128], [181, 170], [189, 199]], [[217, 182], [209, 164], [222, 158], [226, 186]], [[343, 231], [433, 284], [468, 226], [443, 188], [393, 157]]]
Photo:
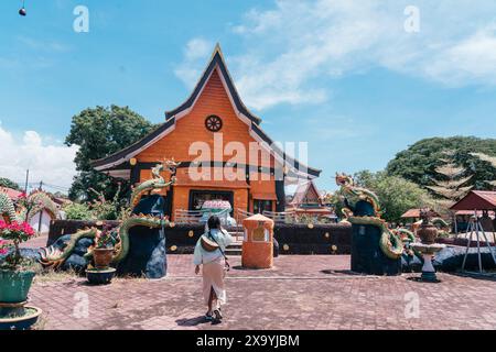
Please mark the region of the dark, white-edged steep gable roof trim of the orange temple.
[[[170, 132], [175, 129], [176, 120], [186, 116], [191, 109], [193, 109], [195, 102], [201, 96], [203, 89], [208, 82], [209, 77], [217, 70], [219, 74], [220, 80], [223, 81], [226, 91], [228, 94], [229, 100], [235, 108], [236, 114], [249, 125], [250, 135], [258, 142], [261, 143], [262, 146], [270, 148], [270, 152], [273, 152], [276, 160], [278, 160], [281, 164], [289, 166], [289, 172], [292, 176], [295, 177], [309, 177], [315, 178], [321, 174], [320, 169], [309, 167], [303, 163], [300, 163], [298, 160], [292, 156], [285, 154], [282, 150], [280, 150], [277, 145], [273, 144], [273, 141], [268, 136], [266, 132], [259, 127], [261, 119], [252, 114], [248, 108], [242, 103], [239, 98], [239, 94], [236, 90], [233, 78], [227, 69], [227, 66], [224, 62], [224, 55], [222, 53], [220, 46], [217, 44], [214, 53], [212, 54], [211, 61], [204, 70], [202, 77], [196, 84], [193, 94], [187, 98], [185, 102], [183, 102], [180, 107], [174, 110], [165, 112], [165, 123], [161, 124], [150, 134], [141, 139], [140, 141], [133, 143], [132, 145], [114, 153], [107, 157], [97, 160], [91, 162], [91, 166], [97, 170], [112, 170], [112, 169], [122, 169], [129, 168], [128, 162], [131, 157], [138, 155], [141, 151], [145, 150]], [[125, 167], [122, 167], [125, 166]]]

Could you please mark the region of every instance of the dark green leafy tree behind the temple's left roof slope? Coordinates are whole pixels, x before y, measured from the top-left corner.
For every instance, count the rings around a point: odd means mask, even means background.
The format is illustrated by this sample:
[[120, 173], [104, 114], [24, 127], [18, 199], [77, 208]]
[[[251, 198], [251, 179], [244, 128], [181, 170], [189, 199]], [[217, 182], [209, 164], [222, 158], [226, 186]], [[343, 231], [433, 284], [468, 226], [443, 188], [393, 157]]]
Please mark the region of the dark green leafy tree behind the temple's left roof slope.
[[[73, 117], [65, 143], [79, 146], [74, 160], [79, 173], [71, 187], [71, 199], [94, 199], [96, 196], [90, 188], [103, 193], [107, 199], [112, 198], [118, 182], [96, 172], [90, 162], [137, 142], [152, 129], [153, 125], [149, 121], [128, 107], [96, 107]], [[129, 184], [123, 183], [122, 189], [126, 196]]]

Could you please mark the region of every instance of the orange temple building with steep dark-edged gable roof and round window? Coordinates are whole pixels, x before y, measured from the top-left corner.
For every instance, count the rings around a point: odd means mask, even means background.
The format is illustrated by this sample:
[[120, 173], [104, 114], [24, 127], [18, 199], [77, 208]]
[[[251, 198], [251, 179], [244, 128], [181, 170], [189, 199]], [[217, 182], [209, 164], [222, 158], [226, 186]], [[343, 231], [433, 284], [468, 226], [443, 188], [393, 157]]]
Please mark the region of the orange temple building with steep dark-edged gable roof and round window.
[[316, 178], [321, 170], [273, 145], [260, 124], [242, 103], [217, 45], [192, 95], [165, 112], [164, 123], [93, 166], [136, 185], [150, 179], [158, 163], [180, 162], [176, 184], [163, 193], [172, 218], [177, 210], [198, 210], [206, 200], [227, 200], [233, 211], [284, 211], [284, 185]]

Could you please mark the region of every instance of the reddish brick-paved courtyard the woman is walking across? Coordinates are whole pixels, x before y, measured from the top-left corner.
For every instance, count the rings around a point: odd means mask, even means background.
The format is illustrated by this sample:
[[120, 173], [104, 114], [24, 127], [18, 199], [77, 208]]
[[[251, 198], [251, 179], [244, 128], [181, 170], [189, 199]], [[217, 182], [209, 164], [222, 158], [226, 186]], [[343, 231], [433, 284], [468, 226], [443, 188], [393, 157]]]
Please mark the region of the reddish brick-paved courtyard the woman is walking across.
[[36, 282], [31, 302], [44, 310], [41, 327], [496, 329], [494, 280], [440, 274], [442, 283], [425, 284], [408, 279], [418, 274], [354, 275], [349, 256], [281, 256], [270, 271], [241, 270], [240, 257], [233, 257], [226, 319], [213, 326], [202, 321], [201, 277], [193, 274], [192, 257], [168, 258], [169, 276], [160, 280], [117, 279], [99, 287], [84, 278]]

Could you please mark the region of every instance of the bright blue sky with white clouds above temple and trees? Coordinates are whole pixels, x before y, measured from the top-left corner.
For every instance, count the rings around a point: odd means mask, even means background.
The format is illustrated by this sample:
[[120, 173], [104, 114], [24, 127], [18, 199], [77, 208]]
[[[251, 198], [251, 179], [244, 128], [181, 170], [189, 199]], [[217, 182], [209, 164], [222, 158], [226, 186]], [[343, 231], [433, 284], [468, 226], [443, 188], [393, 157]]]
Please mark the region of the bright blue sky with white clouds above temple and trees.
[[[322, 189], [423, 138], [496, 136], [494, 1], [26, 0], [25, 18], [20, 3], [0, 2], [0, 175], [15, 180], [30, 167], [68, 187], [74, 114], [116, 103], [163, 121], [216, 42], [272, 139], [309, 142]], [[89, 33], [73, 30], [78, 4]]]

